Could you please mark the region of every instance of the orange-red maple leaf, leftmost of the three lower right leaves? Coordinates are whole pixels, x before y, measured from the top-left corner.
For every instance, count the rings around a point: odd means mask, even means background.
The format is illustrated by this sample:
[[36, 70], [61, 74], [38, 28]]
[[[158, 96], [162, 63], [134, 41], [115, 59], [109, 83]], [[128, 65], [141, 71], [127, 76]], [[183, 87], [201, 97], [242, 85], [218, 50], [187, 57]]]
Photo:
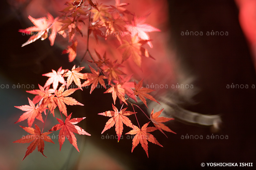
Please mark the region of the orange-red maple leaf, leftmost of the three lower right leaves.
[[106, 111], [106, 112], [98, 114], [98, 115], [111, 117], [108, 120], [108, 122], [106, 123], [105, 128], [102, 130], [101, 134], [115, 125], [116, 126], [116, 135], [118, 136], [117, 140], [119, 142], [120, 137], [121, 137], [122, 132], [123, 132], [123, 129], [124, 129], [123, 123], [126, 126], [133, 128], [132, 122], [126, 116], [135, 114], [137, 112], [125, 111], [127, 109], [127, 107], [120, 110], [120, 112], [119, 112], [113, 104], [112, 104], [112, 107], [113, 107], [114, 111]]

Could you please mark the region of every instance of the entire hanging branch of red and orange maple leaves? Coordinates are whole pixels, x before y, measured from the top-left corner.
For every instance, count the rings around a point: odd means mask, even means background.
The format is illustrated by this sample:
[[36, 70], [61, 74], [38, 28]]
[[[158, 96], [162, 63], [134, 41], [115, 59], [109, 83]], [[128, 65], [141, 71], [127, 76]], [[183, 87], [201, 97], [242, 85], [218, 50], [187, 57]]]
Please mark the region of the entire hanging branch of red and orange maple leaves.
[[[133, 74], [127, 75], [124, 72], [123, 63], [129, 59], [132, 59], [132, 61], [135, 63], [134, 67], [141, 69], [143, 57], [146, 57], [148, 60], [155, 59], [149, 54], [148, 49], [142, 46], [146, 45], [149, 46], [149, 48], [153, 48], [153, 44], [151, 42], [152, 40], [150, 39], [148, 33], [159, 32], [160, 30], [145, 23], [148, 15], [142, 17], [136, 16], [126, 9], [126, 6], [129, 4], [120, 3], [120, 0], [116, 0], [115, 6], [105, 5], [103, 3], [99, 4], [98, 2], [93, 2], [92, 0], [67, 1], [65, 5], [66, 7], [60, 11], [61, 14], [56, 18], [53, 18], [50, 13], [46, 14], [47, 17], [42, 18], [33, 18], [28, 16], [29, 20], [35, 26], [19, 30], [19, 32], [31, 35], [28, 41], [22, 44], [22, 47], [38, 40], [39, 38], [41, 38], [41, 40], [49, 38], [50, 45], [53, 46], [57, 34], [62, 35], [63, 38], [68, 36], [68, 42], [71, 42], [72, 44], [68, 45], [67, 48], [62, 51], [62, 54], [68, 54], [68, 61], [73, 62], [76, 59], [76, 50], [78, 48], [78, 44], [81, 43], [78, 41], [78, 37], [85, 36], [87, 39], [87, 47], [84, 49], [85, 53], [83, 56], [81, 56], [80, 64], [77, 66], [74, 65], [71, 70], [62, 69], [62, 67], [60, 67], [57, 71], [52, 70], [52, 72], [43, 74], [42, 76], [49, 77], [44, 86], [38, 85], [39, 89], [27, 91], [28, 93], [36, 95], [33, 100], [28, 98], [29, 106], [15, 106], [22, 111], [26, 111], [15, 123], [28, 119], [29, 127], [20, 127], [29, 132], [31, 135], [27, 135], [24, 138], [14, 141], [14, 143], [32, 142], [28, 146], [25, 157], [33, 152], [36, 146], [38, 147], [38, 151], [43, 154], [44, 141], [53, 143], [51, 138], [48, 136], [48, 134], [51, 132], [43, 133], [46, 118], [49, 112], [54, 117], [54, 110], [58, 107], [61, 119], [56, 119], [59, 124], [55, 124], [48, 131], [60, 130], [60, 150], [65, 138], [68, 138], [70, 144], [72, 144], [79, 152], [74, 133], [79, 135], [91, 135], [81, 127], [75, 125], [84, 120], [85, 117], [71, 119], [72, 113], [68, 115], [66, 107], [66, 105], [84, 106], [84, 104], [68, 96], [77, 90], [83, 90], [83, 87], [89, 85], [91, 85], [91, 94], [92, 91], [96, 89], [97, 85], [100, 84], [106, 89], [104, 93], [112, 94], [114, 103], [112, 104], [113, 111], [99, 113], [99, 115], [111, 117], [106, 122], [101, 134], [115, 125], [116, 135], [118, 136], [119, 142], [124, 130], [124, 125], [126, 125], [127, 127], [132, 128], [132, 130], [125, 134], [135, 135], [132, 139], [132, 151], [140, 143], [148, 156], [148, 141], [162, 146], [149, 132], [160, 130], [162, 133], [164, 133], [164, 130], [176, 134], [163, 124], [164, 122], [168, 122], [173, 119], [159, 117], [163, 109], [156, 113], [153, 113], [153, 109], [149, 118], [143, 109], [135, 104], [138, 100], [141, 100], [142, 103], [148, 107], [147, 99], [157, 103], [159, 102], [152, 95], [148, 94], [154, 90], [143, 86], [143, 78], [136, 83]], [[49, 37], [48, 33], [50, 33]], [[104, 33], [104, 35], [102, 35], [102, 33]], [[112, 60], [107, 57], [106, 52], [101, 57], [96, 49], [94, 49], [96, 56], [92, 55], [89, 48], [89, 36], [91, 34], [99, 46], [100, 37], [105, 41], [107, 41], [107, 39], [111, 36], [111, 38], [115, 37], [115, 40], [118, 43], [116, 50], [119, 50], [121, 55], [116, 56], [116, 60]], [[89, 65], [91, 73], [84, 71], [85, 66], [80, 67], [85, 55], [89, 55], [91, 58], [89, 61], [92, 63]], [[97, 61], [95, 60], [95, 57], [97, 58]], [[96, 65], [97, 69], [94, 69], [93, 65]], [[70, 88], [72, 82], [74, 82], [78, 88]], [[109, 85], [108, 89], [106, 85]], [[115, 106], [117, 98], [119, 98], [120, 104], [122, 104], [120, 111], [118, 111], [117, 107]], [[129, 111], [128, 107], [123, 108], [124, 104], [127, 106], [132, 106], [133, 110]], [[135, 112], [134, 106], [138, 107], [141, 112]], [[45, 115], [44, 120], [42, 117], [43, 112]], [[144, 114], [146, 118], [155, 125], [155, 127], [148, 127], [148, 124], [150, 123], [148, 122], [140, 128], [140, 123], [136, 114], [141, 113]], [[135, 126], [134, 123], [127, 117], [131, 117], [133, 115], [135, 116], [139, 127]], [[44, 123], [42, 126], [42, 132], [36, 124], [36, 129], [31, 128], [35, 119], [38, 119]], [[40, 136], [42, 138], [35, 138], [35, 136]]]

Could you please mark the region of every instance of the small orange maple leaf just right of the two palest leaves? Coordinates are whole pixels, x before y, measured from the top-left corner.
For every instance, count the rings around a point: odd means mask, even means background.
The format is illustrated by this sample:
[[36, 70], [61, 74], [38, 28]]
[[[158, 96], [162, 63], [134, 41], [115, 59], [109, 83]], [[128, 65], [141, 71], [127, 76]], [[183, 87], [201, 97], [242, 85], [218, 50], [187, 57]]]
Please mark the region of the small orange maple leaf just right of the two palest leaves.
[[103, 79], [106, 79], [106, 77], [103, 76], [103, 75], [100, 75], [99, 70], [97, 70], [97, 71], [94, 70], [90, 65], [89, 65], [89, 67], [90, 67], [92, 73], [87, 73], [87, 77], [88, 77], [89, 80], [86, 80], [82, 84], [82, 87], [86, 87], [86, 86], [92, 84], [90, 94], [97, 87], [98, 83], [100, 83], [106, 89], [106, 85], [105, 85], [105, 82], [103, 80]]

